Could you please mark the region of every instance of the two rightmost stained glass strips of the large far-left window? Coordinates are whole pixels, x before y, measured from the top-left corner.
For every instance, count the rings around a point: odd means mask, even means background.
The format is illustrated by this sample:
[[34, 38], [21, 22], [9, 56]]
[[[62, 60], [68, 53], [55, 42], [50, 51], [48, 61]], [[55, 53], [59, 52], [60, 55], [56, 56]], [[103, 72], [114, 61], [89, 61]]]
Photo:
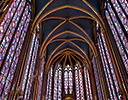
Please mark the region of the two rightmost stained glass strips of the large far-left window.
[[[28, 28], [28, 24], [29, 24], [29, 21], [30, 21], [30, 16], [28, 16], [28, 15], [30, 15], [30, 13], [28, 14], [28, 7], [26, 7], [25, 13], [23, 14], [23, 17], [22, 17], [21, 22], [19, 24], [18, 30], [17, 30], [16, 35], [13, 39], [12, 44], [11, 44], [9, 54], [6, 58], [6, 62], [5, 62], [4, 66], [3, 66], [3, 69], [2, 69], [2, 73], [4, 73], [4, 76], [7, 78], [7, 79], [4, 78], [2, 81], [8, 80], [8, 82], [9, 82], [8, 83], [9, 85], [5, 84], [4, 91], [2, 93], [3, 98], [7, 98], [8, 92], [10, 91], [10, 85], [11, 85], [11, 82], [12, 82], [12, 79], [13, 79], [13, 76], [14, 76], [14, 72], [15, 72], [15, 69], [16, 69], [17, 62], [18, 62], [18, 58], [19, 58], [19, 55], [20, 55], [22, 44], [24, 42], [24, 38], [25, 38], [25, 35], [26, 35], [26, 30]], [[28, 19], [26, 19], [26, 17]], [[23, 21], [23, 19], [25, 19], [25, 20]], [[1, 85], [1, 90], [3, 88], [4, 83], [5, 82], [0, 83], [0, 84], [2, 84]]]

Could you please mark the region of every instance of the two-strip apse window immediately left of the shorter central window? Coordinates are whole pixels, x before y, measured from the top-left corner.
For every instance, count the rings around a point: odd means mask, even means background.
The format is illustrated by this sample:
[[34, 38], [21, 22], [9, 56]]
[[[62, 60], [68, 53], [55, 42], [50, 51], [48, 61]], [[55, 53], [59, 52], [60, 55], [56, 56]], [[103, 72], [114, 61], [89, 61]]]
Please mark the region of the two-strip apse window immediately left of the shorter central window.
[[58, 65], [54, 76], [54, 100], [62, 100], [62, 66]]

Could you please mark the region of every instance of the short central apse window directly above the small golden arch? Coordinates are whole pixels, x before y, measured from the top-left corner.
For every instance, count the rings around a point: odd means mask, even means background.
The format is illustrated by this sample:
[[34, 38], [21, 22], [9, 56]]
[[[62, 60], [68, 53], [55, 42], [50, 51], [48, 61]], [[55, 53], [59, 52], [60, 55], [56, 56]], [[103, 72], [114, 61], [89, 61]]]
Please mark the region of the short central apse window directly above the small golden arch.
[[64, 69], [64, 89], [65, 94], [72, 94], [73, 92], [73, 79], [72, 79], [72, 68], [67, 65]]

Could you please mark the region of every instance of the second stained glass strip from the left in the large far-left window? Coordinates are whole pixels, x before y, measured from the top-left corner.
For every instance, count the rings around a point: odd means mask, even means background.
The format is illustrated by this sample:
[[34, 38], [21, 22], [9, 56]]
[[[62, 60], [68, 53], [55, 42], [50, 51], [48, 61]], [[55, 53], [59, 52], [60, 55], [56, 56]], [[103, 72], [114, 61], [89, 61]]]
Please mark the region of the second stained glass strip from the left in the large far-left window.
[[19, 5], [19, 7], [18, 7], [10, 25], [9, 25], [9, 28], [8, 28], [6, 34], [5, 34], [5, 37], [3, 38], [3, 41], [2, 41], [2, 44], [1, 44], [1, 47], [0, 47], [0, 53], [2, 54], [1, 57], [0, 57], [0, 65], [2, 63], [2, 60], [4, 59], [4, 56], [5, 56], [6, 51], [8, 49], [9, 43], [12, 39], [12, 36], [14, 35], [15, 28], [18, 24], [18, 21], [20, 19], [21, 14], [22, 14], [25, 3], [26, 3], [25, 0], [21, 1], [20, 5]]

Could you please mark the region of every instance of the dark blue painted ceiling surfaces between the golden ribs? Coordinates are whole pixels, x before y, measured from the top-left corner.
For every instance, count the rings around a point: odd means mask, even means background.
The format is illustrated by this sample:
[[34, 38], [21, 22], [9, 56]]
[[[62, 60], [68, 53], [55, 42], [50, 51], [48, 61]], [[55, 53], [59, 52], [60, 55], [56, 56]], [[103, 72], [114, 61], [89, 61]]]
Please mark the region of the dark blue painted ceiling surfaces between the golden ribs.
[[[35, 10], [35, 16], [39, 13], [39, 11], [46, 5], [46, 3], [49, 0], [36, 0], [36, 10]], [[99, 0], [87, 0], [88, 3], [90, 3], [94, 9], [96, 9], [96, 11], [100, 14], [100, 4], [99, 4]], [[82, 0], [53, 0], [53, 2], [42, 12], [41, 15], [49, 12], [50, 10], [60, 7], [60, 6], [64, 6], [64, 5], [73, 5], [76, 7], [80, 7], [82, 9], [85, 9], [89, 12], [91, 12], [92, 14], [95, 14], [92, 9], [90, 9], [88, 7], [88, 5], [86, 5]], [[72, 17], [76, 17], [76, 16], [88, 16], [91, 17], [90, 15], [88, 15], [87, 13], [83, 13], [81, 11], [72, 9], [72, 8], [64, 8], [58, 11], [55, 11], [49, 15], [47, 15], [45, 18], [49, 18], [49, 17], [62, 17], [62, 18], [72, 18]], [[63, 22], [64, 20], [62, 19], [49, 19], [49, 20], [45, 20], [42, 21], [42, 43], [43, 41], [46, 39], [46, 37], [48, 36], [48, 34], [57, 26], [59, 25], [61, 22]], [[75, 24], [77, 24], [78, 26], [80, 26], [88, 35], [89, 37], [92, 39], [92, 41], [94, 40], [94, 36], [93, 36], [93, 20], [92, 19], [88, 19], [88, 18], [76, 18], [76, 19], [71, 19], [71, 21]], [[53, 36], [55, 36], [56, 34], [63, 32], [63, 31], [73, 31], [76, 32], [84, 37], [87, 37], [87, 35], [85, 35], [78, 27], [76, 27], [75, 25], [73, 25], [71, 22], [67, 21], [65, 22], [63, 25], [61, 25], [59, 28], [57, 28], [57, 30], [55, 30], [52, 35], [50, 35], [50, 37], [48, 38], [48, 40], [50, 38], [52, 38]], [[58, 37], [56, 37], [55, 39], [81, 39], [81, 37], [76, 36], [74, 34], [70, 34], [70, 33], [65, 33], [63, 35], [60, 35]], [[47, 40], [47, 42], [48, 42]], [[55, 41], [53, 43], [50, 43], [47, 46], [47, 59], [49, 58], [49, 56], [51, 55], [51, 53], [57, 48], [58, 45], [60, 45], [62, 42], [64, 41]], [[72, 40], [73, 43], [75, 43], [77, 46], [79, 46], [88, 56], [89, 58], [89, 45], [86, 42], [82, 42], [82, 41], [78, 41], [78, 40]], [[54, 55], [56, 55], [57, 52], [65, 49], [65, 48], [71, 48], [74, 49], [76, 51], [78, 51], [79, 53], [81, 53], [82, 55], [83, 52], [81, 52], [80, 49], [78, 49], [75, 45], [73, 45], [70, 42], [66, 42], [65, 44], [61, 45], [56, 52], [54, 52], [54, 54], [52, 55], [52, 57]], [[72, 58], [71, 58], [72, 59]], [[57, 60], [58, 61], [58, 60]], [[64, 59], [62, 60], [64, 61]]]

